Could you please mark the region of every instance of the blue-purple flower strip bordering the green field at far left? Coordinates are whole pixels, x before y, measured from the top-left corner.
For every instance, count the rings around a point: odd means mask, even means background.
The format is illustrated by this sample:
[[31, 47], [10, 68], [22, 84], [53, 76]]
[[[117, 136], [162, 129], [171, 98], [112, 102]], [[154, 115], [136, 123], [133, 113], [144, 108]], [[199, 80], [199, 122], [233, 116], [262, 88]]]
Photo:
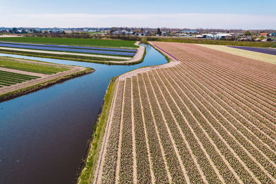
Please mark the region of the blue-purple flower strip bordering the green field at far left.
[[0, 47], [6, 48], [23, 48], [30, 50], [50, 50], [59, 52], [77, 52], [77, 53], [88, 53], [88, 54], [103, 54], [103, 55], [115, 55], [115, 56], [129, 56], [135, 55], [135, 52], [122, 52], [122, 51], [110, 51], [110, 50], [89, 50], [81, 48], [57, 48], [49, 46], [38, 46], [38, 45], [19, 45], [10, 43], [0, 43]]

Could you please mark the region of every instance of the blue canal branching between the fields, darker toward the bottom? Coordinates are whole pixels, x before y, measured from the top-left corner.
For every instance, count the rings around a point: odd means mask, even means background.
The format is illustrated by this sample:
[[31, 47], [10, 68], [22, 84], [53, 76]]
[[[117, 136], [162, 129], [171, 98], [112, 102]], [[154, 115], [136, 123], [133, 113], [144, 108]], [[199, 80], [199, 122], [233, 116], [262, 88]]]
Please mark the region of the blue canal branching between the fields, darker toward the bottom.
[[113, 76], [166, 63], [150, 45], [137, 65], [102, 65], [18, 57], [80, 65], [95, 72], [0, 103], [0, 183], [72, 183]]

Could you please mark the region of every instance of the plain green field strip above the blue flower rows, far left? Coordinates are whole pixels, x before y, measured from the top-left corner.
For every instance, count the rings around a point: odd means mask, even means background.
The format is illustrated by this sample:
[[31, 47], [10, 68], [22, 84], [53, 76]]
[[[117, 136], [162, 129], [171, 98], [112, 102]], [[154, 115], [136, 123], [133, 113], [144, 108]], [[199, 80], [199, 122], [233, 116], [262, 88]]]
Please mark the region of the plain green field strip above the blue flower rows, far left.
[[24, 43], [45, 43], [59, 45], [90, 45], [98, 47], [114, 48], [138, 48], [134, 45], [135, 41], [112, 40], [112, 39], [68, 39], [68, 38], [49, 38], [49, 37], [3, 37], [0, 41], [13, 41]]

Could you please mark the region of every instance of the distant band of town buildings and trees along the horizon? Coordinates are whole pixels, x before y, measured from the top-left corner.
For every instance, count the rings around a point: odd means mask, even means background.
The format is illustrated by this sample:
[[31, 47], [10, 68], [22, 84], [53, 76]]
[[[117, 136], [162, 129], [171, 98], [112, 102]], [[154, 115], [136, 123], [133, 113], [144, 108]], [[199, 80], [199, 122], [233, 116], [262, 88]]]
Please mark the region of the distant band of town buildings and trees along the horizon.
[[78, 37], [184, 37], [191, 39], [217, 39], [229, 41], [276, 41], [276, 30], [220, 30], [173, 28], [4, 28], [0, 34], [16, 36], [61, 37], [74, 34]]

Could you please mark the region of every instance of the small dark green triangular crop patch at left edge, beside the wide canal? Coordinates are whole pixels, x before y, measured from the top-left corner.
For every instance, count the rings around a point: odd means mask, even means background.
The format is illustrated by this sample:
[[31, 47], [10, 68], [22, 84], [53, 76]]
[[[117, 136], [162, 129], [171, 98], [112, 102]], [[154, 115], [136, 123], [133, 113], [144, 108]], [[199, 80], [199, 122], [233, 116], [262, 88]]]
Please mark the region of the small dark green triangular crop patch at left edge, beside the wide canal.
[[40, 78], [40, 76], [30, 76], [0, 70], [0, 87], [2, 88], [3, 86], [10, 86], [37, 78]]

